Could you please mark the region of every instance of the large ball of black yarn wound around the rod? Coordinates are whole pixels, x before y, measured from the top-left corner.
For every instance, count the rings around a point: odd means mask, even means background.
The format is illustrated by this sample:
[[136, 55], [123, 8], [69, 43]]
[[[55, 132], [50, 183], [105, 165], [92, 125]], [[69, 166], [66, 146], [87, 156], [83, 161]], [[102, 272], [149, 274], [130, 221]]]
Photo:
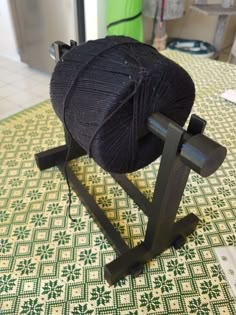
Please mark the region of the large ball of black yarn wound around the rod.
[[148, 117], [160, 112], [183, 126], [195, 97], [184, 69], [124, 36], [72, 48], [57, 63], [50, 87], [54, 110], [73, 140], [115, 173], [159, 157], [163, 142], [142, 135]]

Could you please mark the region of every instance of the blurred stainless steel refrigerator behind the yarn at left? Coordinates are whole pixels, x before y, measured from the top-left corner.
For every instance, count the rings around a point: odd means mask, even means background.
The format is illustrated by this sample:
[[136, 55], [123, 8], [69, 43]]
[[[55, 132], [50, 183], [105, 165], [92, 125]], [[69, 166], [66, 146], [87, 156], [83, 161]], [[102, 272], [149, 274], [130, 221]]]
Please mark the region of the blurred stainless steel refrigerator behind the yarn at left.
[[83, 0], [10, 0], [20, 58], [51, 73], [49, 47], [56, 41], [85, 40]]

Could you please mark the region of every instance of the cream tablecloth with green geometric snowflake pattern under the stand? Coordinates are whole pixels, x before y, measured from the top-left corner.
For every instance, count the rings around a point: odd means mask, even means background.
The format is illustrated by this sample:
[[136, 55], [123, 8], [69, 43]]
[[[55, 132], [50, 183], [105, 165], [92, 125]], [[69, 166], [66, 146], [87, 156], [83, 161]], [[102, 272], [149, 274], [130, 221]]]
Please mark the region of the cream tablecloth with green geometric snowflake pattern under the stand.
[[[201, 222], [187, 244], [153, 259], [138, 278], [109, 287], [103, 266], [112, 247], [73, 197], [59, 171], [40, 172], [34, 154], [63, 143], [63, 130], [46, 101], [0, 122], [0, 314], [236, 314], [236, 302], [213, 248], [236, 246], [236, 106], [220, 98], [236, 86], [236, 67], [166, 52], [191, 74], [194, 113], [206, 134], [228, 149], [209, 178], [191, 173], [178, 218]], [[146, 216], [116, 182], [87, 156], [73, 168], [130, 246], [143, 239]], [[152, 198], [159, 161], [130, 174]]]

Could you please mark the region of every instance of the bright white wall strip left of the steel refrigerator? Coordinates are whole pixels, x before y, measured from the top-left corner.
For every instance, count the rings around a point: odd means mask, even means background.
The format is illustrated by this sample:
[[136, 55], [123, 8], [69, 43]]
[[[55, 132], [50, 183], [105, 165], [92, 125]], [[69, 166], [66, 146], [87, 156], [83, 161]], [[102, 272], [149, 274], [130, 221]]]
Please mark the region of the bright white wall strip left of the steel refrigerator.
[[8, 0], [0, 0], [0, 56], [20, 60]]

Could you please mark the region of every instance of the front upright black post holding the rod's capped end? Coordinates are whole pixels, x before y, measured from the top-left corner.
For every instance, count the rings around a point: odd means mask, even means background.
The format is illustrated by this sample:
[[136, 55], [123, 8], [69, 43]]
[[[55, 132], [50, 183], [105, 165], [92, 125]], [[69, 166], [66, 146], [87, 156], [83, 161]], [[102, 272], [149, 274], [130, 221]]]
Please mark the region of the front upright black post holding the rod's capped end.
[[170, 246], [174, 220], [190, 172], [178, 152], [183, 133], [181, 127], [169, 124], [144, 239], [144, 245], [155, 254]]

